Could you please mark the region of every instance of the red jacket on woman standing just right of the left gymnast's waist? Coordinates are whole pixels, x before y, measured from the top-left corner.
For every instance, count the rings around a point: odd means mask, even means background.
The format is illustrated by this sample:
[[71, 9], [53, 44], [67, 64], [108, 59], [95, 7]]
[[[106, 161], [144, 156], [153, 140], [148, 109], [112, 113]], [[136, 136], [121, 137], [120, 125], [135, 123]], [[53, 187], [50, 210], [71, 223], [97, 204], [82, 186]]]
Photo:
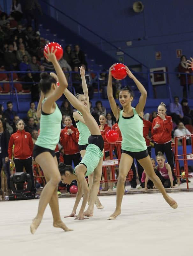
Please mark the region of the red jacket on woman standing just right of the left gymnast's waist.
[[[72, 134], [68, 134], [67, 130], [71, 129]], [[74, 155], [79, 152], [78, 149], [79, 132], [73, 125], [70, 127], [65, 126], [60, 133], [60, 143], [64, 148], [65, 155]]]

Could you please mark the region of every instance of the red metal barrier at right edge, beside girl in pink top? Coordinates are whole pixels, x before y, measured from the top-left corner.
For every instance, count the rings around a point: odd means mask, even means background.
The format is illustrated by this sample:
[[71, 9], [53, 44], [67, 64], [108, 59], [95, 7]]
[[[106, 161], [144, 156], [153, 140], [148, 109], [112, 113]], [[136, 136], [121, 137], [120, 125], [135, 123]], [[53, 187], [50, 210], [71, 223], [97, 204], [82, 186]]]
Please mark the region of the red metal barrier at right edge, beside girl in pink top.
[[[187, 137], [191, 139], [191, 153], [188, 153], [188, 154], [187, 154], [187, 148], [186, 148]], [[178, 140], [182, 140], [182, 155], [178, 154]], [[193, 175], [190, 175], [188, 172], [188, 160], [193, 160], [193, 134], [174, 137], [174, 143], [172, 143], [172, 150], [174, 152], [174, 157], [175, 157], [174, 173], [177, 178], [186, 179], [187, 189], [189, 189], [188, 178], [193, 177]], [[181, 175], [180, 173], [180, 161], [183, 161], [184, 173], [185, 173], [184, 175]]]

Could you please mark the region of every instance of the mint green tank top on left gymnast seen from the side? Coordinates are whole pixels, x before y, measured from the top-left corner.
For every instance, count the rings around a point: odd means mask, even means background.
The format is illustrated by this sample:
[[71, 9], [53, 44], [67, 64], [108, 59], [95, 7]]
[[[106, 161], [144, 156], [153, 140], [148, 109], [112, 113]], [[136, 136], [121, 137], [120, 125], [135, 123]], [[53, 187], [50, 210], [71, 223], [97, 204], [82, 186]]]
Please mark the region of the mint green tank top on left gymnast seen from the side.
[[[43, 100], [42, 104], [45, 100], [46, 98]], [[52, 114], [46, 114], [41, 110], [40, 135], [35, 144], [43, 148], [55, 150], [56, 144], [60, 139], [61, 121], [62, 114], [57, 104], [56, 109]]]

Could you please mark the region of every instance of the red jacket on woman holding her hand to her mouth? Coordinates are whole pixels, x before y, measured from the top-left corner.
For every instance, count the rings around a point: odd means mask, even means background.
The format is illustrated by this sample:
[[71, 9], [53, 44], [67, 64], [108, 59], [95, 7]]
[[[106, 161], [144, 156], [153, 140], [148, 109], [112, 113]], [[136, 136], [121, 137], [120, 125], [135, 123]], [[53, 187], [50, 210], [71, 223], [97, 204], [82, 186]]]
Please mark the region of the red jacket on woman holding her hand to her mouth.
[[[160, 127], [154, 130], [153, 127], [155, 124], [160, 124]], [[165, 144], [172, 140], [172, 129], [173, 122], [171, 116], [166, 116], [164, 120], [160, 116], [157, 116], [152, 122], [152, 139], [157, 144]]]

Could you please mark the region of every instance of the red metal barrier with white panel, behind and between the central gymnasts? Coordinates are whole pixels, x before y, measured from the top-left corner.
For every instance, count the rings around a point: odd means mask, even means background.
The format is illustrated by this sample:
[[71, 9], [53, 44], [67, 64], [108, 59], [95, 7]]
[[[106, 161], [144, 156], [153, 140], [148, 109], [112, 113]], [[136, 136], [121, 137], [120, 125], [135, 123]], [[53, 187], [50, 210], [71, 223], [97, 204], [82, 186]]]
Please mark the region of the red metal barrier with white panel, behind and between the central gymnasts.
[[[104, 174], [104, 180], [101, 180], [100, 183], [104, 183], [104, 182], [116, 182], [117, 179], [115, 179], [115, 167], [119, 165], [120, 159], [121, 159], [121, 141], [118, 141], [114, 144], [109, 143], [109, 142], [105, 142], [105, 148], [107, 150], [107, 146], [108, 146], [108, 151], [110, 153], [110, 159], [105, 159], [105, 154], [103, 157], [103, 174]], [[113, 151], [114, 149], [116, 149], [117, 152], [117, 159], [113, 158]], [[109, 180], [108, 179], [108, 175], [107, 175], [107, 167], [111, 168], [111, 173], [112, 173], [112, 179]], [[128, 175], [126, 180], [131, 181], [133, 178], [133, 171], [129, 170]]]

